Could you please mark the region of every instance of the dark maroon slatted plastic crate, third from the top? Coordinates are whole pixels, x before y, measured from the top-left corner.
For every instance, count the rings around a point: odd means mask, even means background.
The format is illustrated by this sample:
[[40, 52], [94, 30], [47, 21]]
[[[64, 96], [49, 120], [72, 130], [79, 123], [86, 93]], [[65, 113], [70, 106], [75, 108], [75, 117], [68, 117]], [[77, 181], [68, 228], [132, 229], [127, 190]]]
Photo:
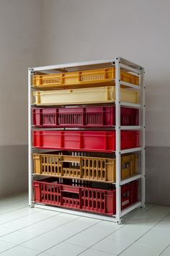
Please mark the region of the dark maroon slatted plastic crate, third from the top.
[[[37, 127], [112, 127], [115, 106], [33, 108], [32, 119]], [[139, 111], [121, 108], [120, 119], [121, 125], [138, 125]]]

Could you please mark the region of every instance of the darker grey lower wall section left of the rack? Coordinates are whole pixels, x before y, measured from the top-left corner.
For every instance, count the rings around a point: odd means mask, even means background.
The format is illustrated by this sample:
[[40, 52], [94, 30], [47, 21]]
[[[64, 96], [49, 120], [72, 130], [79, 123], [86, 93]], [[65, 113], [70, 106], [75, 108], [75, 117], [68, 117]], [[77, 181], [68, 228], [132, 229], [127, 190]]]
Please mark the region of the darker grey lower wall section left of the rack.
[[0, 197], [26, 192], [28, 188], [27, 145], [0, 146]]

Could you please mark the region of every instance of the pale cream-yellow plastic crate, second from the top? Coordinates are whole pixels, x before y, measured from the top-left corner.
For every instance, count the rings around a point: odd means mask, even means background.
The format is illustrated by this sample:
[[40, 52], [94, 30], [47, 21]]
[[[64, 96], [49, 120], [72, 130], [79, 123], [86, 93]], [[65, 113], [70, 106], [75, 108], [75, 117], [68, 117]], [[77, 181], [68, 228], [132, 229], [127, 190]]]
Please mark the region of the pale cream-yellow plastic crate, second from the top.
[[[121, 88], [120, 101], [138, 103], [138, 92]], [[59, 106], [115, 102], [115, 86], [71, 90], [44, 90], [33, 92], [35, 105]]]

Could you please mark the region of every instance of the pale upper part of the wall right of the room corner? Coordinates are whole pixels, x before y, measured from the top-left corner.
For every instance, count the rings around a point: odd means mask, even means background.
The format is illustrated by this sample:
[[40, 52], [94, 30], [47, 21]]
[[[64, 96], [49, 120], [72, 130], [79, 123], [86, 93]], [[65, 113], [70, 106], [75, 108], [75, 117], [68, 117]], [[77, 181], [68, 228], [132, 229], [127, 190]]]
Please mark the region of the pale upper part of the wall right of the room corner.
[[146, 68], [146, 145], [170, 146], [170, 1], [43, 0], [40, 63], [122, 56]]

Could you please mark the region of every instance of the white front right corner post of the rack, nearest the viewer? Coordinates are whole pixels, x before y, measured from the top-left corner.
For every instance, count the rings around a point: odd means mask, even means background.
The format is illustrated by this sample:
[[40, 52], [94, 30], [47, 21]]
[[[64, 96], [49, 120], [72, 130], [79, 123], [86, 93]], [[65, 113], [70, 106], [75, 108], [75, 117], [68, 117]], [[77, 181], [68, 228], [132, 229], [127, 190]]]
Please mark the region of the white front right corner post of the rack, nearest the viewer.
[[120, 58], [115, 59], [115, 108], [116, 108], [116, 220], [121, 223], [121, 155], [120, 155]]

